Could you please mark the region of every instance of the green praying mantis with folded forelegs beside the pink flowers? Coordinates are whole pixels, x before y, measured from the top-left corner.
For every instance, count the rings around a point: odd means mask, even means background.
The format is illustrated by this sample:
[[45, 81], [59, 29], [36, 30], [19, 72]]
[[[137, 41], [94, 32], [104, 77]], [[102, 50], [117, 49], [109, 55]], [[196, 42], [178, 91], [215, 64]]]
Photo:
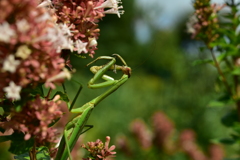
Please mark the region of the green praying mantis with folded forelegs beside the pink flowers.
[[[111, 87], [107, 91], [105, 91], [98, 97], [94, 98], [90, 102], [87, 102], [80, 108], [72, 109], [73, 105], [69, 107], [69, 110], [72, 113], [77, 113], [78, 115], [66, 124], [55, 160], [66, 160], [68, 157], [70, 160], [72, 160], [71, 151], [74, 145], [76, 144], [79, 136], [83, 132], [85, 132], [83, 131], [84, 127], [89, 127], [88, 125], [86, 125], [86, 123], [94, 107], [96, 107], [96, 105], [99, 104], [107, 96], [116, 91], [131, 76], [131, 68], [127, 66], [124, 59], [118, 54], [113, 54], [111, 57], [100, 56], [93, 60], [92, 62], [90, 62], [89, 64], [87, 64], [87, 66], [101, 59], [109, 60], [109, 62], [102, 66], [92, 66], [90, 68], [91, 72], [94, 74], [94, 77], [88, 82], [88, 87], [93, 89], [108, 86]], [[119, 59], [123, 63], [123, 66], [116, 65], [117, 59]], [[115, 80], [114, 78], [105, 74], [109, 70], [112, 70], [115, 73], [117, 70], [121, 70], [123, 72], [123, 75], [120, 79]], [[96, 83], [96, 81], [99, 80], [100, 78], [102, 78], [104, 82]], [[78, 96], [80, 91], [81, 87], [76, 96]]]

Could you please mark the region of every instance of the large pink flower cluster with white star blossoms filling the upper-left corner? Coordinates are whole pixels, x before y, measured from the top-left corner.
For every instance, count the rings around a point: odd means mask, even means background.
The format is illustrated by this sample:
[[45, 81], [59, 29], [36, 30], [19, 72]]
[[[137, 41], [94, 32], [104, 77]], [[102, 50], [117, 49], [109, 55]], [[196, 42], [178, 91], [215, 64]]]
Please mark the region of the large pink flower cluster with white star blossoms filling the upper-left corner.
[[54, 88], [51, 79], [65, 66], [59, 44], [67, 37], [51, 13], [37, 5], [31, 0], [0, 2], [0, 98], [19, 100], [22, 88], [45, 82]]

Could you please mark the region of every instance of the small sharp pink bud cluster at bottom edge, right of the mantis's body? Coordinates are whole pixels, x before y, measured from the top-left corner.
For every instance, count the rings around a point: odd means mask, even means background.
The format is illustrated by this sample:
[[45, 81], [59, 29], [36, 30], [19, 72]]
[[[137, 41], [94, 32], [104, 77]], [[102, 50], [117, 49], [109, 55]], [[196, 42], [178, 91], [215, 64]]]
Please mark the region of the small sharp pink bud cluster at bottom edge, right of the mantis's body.
[[96, 140], [96, 142], [88, 142], [87, 146], [82, 145], [82, 148], [85, 148], [89, 152], [89, 158], [83, 158], [83, 160], [106, 160], [109, 157], [112, 157], [116, 152], [113, 152], [115, 146], [112, 145], [109, 148], [110, 137], [106, 137], [106, 142], [103, 144], [101, 140]]

